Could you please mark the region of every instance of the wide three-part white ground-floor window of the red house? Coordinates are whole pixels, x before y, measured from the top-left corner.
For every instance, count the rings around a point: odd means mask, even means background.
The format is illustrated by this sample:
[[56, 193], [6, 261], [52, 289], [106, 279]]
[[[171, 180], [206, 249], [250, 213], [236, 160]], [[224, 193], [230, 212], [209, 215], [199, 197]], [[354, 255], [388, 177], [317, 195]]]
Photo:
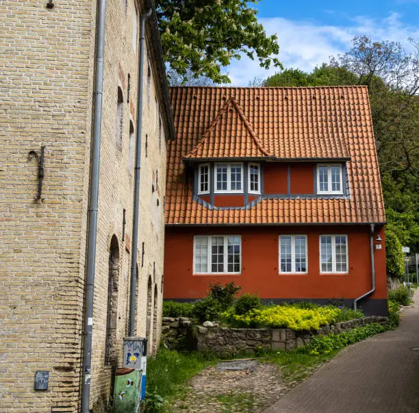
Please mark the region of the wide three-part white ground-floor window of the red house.
[[240, 274], [240, 235], [194, 236], [194, 274]]

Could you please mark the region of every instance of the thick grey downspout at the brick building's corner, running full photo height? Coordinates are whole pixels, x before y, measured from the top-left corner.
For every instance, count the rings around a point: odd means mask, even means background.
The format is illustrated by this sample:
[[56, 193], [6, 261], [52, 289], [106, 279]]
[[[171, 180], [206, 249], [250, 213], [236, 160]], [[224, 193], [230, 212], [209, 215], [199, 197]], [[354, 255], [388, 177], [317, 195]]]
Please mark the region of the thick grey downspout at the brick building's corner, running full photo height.
[[97, 203], [101, 160], [101, 123], [103, 91], [103, 56], [105, 54], [106, 0], [97, 0], [96, 44], [94, 58], [92, 147], [88, 209], [88, 242], [86, 253], [86, 292], [84, 297], [83, 377], [81, 381], [81, 412], [89, 413], [90, 372], [92, 359], [94, 264], [96, 260]]

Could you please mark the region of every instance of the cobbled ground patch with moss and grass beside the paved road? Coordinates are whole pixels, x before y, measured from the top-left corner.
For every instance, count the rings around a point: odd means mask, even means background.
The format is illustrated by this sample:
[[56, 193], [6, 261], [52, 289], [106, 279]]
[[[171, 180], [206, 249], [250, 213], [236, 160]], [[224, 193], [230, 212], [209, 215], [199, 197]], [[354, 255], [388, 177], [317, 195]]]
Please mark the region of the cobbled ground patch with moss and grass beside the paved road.
[[227, 413], [262, 412], [288, 391], [279, 368], [258, 363], [254, 371], [217, 371], [208, 367], [192, 378], [184, 400], [173, 412]]

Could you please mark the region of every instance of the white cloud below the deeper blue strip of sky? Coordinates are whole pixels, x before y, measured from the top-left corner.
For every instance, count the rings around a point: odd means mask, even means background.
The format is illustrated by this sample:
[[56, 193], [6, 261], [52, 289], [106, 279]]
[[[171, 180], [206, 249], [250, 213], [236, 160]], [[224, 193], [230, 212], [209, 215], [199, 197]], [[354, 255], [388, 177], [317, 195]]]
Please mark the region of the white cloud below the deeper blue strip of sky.
[[[419, 38], [419, 29], [401, 23], [401, 16], [391, 12], [386, 18], [356, 16], [346, 26], [321, 25], [314, 21], [292, 21], [286, 18], [260, 18], [268, 34], [276, 33], [279, 39], [279, 60], [285, 68], [312, 71], [317, 65], [329, 62], [331, 55], [344, 53], [354, 36], [366, 34], [374, 40], [394, 40], [405, 43], [407, 38]], [[243, 56], [228, 68], [231, 84], [247, 86], [255, 77], [262, 79], [277, 72], [266, 71], [257, 60]]]

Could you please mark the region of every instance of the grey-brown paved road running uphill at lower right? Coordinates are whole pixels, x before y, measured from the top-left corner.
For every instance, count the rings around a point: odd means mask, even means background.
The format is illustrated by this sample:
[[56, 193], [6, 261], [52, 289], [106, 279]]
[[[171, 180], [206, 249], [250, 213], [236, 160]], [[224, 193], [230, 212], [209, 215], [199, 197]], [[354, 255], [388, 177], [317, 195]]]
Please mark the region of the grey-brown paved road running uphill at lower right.
[[398, 329], [347, 347], [264, 413], [291, 412], [419, 413], [419, 292]]

